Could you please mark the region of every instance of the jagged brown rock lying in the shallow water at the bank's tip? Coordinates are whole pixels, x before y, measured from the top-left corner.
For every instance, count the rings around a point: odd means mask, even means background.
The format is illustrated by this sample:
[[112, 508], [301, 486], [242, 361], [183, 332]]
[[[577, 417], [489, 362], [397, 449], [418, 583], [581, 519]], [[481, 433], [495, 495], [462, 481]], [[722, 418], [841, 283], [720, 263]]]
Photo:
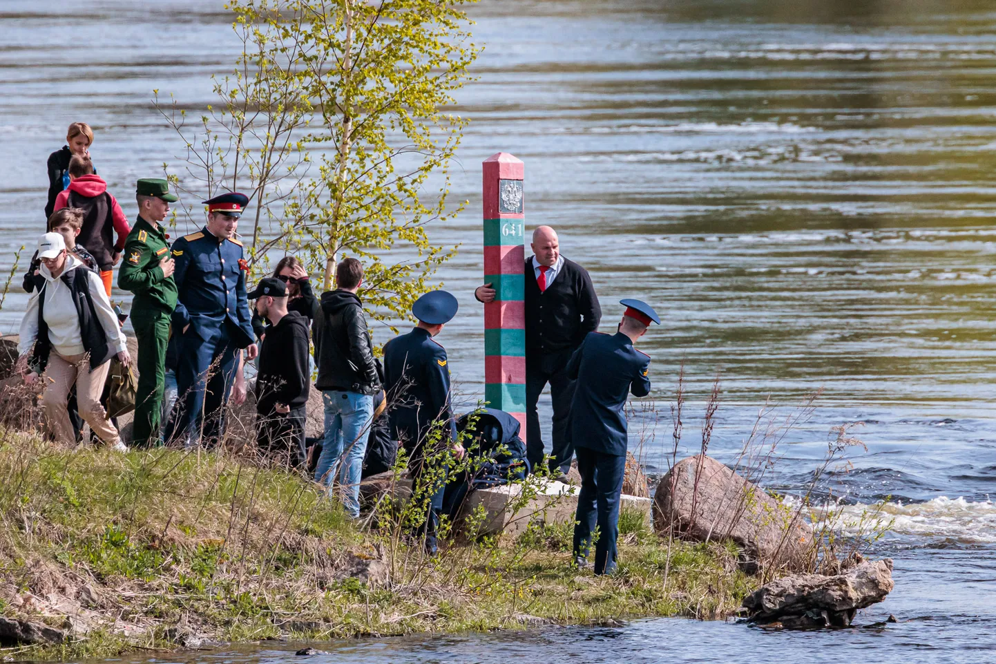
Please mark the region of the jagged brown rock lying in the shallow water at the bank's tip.
[[892, 559], [865, 561], [843, 574], [797, 574], [766, 583], [744, 597], [749, 619], [787, 629], [847, 627], [860, 608], [892, 589]]

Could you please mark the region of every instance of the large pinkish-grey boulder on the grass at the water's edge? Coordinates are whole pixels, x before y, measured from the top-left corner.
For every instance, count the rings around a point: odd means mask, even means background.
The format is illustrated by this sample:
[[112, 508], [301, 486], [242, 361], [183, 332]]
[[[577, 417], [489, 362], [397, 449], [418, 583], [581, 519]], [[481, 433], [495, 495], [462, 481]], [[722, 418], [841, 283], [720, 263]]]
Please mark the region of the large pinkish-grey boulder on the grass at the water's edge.
[[673, 528], [692, 541], [733, 540], [750, 573], [805, 570], [815, 551], [813, 529], [798, 509], [705, 456], [682, 460], [661, 478], [653, 509], [658, 532]]

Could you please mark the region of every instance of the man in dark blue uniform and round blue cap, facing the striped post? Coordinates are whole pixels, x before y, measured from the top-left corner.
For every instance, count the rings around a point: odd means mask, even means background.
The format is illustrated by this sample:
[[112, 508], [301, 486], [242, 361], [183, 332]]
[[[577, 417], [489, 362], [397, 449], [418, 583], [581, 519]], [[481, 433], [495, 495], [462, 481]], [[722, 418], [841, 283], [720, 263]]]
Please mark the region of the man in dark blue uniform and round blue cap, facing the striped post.
[[429, 553], [436, 551], [436, 528], [446, 487], [445, 464], [431, 462], [446, 448], [458, 459], [463, 456], [463, 448], [456, 444], [446, 349], [432, 339], [456, 315], [456, 309], [456, 298], [446, 291], [425, 293], [411, 307], [418, 325], [383, 347], [391, 433], [408, 453], [408, 470], [415, 487], [419, 488], [419, 480], [426, 477], [419, 494], [427, 499], [428, 513], [419, 530], [425, 534]]

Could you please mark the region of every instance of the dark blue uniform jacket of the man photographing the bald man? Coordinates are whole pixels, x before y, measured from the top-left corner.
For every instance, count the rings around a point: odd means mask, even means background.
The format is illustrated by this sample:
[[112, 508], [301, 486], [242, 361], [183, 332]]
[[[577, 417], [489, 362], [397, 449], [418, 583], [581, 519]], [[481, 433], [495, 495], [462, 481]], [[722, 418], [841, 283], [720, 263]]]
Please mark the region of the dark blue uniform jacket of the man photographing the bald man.
[[625, 455], [628, 435], [622, 412], [629, 393], [650, 393], [650, 358], [632, 347], [622, 332], [585, 337], [567, 365], [578, 381], [571, 402], [571, 440], [576, 448]]

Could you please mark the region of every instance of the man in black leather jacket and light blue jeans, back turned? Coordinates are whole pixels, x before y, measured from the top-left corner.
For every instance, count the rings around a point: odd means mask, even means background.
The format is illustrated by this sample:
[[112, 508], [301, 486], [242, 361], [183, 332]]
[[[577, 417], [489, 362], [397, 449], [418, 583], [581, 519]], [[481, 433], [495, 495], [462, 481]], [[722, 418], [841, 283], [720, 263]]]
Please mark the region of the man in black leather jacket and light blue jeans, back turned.
[[360, 478], [373, 420], [373, 395], [380, 381], [373, 363], [373, 343], [357, 296], [364, 267], [356, 258], [344, 258], [336, 267], [333, 291], [322, 293], [322, 314], [315, 321], [315, 361], [325, 404], [325, 437], [315, 469], [315, 481], [331, 493], [337, 471], [343, 487], [343, 506], [360, 516]]

